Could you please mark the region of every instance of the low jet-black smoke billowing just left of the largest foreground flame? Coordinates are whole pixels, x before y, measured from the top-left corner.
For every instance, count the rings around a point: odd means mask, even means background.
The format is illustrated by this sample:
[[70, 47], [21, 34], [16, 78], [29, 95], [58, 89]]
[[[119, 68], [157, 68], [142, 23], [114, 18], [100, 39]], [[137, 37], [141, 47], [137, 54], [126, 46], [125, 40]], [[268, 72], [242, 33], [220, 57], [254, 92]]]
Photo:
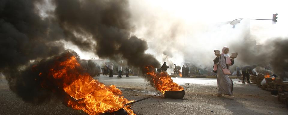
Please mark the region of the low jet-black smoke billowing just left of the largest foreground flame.
[[[61, 100], [67, 105], [67, 99], [72, 99], [63, 89], [63, 79], [55, 79], [50, 74], [51, 70], [61, 69], [62, 66], [55, 68], [55, 65], [66, 61], [71, 56], [75, 56], [79, 62], [79, 56], [73, 50], [54, 56], [50, 59], [43, 59], [38, 63], [27, 66], [21, 72], [13, 72], [6, 75], [10, 89], [16, 93], [24, 102], [38, 105], [49, 102], [52, 98]], [[80, 72], [87, 72], [85, 68], [77, 68]], [[41, 73], [41, 75], [39, 74]], [[81, 73], [82, 74], [82, 73]], [[71, 78], [72, 80], [72, 78]], [[72, 83], [71, 81], [70, 83]]]

